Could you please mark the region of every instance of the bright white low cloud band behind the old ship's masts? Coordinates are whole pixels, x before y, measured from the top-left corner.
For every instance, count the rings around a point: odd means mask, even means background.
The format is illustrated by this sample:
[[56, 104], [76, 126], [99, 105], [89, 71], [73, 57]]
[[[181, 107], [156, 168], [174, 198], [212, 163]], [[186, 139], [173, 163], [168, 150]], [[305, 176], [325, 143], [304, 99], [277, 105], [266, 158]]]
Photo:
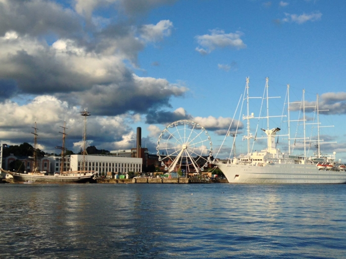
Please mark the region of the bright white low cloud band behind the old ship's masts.
[[[38, 128], [38, 142], [46, 152], [55, 152], [55, 146], [61, 146], [60, 126], [66, 120], [66, 147], [75, 152], [80, 150], [84, 120], [80, 116], [80, 109], [70, 107], [67, 102], [59, 101], [53, 96], [38, 96], [26, 105], [18, 105], [6, 101], [0, 104], [0, 140], [10, 140], [13, 145], [23, 142], [33, 143], [31, 134], [35, 120]], [[96, 147], [104, 149], [123, 148], [129, 141], [129, 136], [135, 140], [135, 134], [127, 123], [128, 117], [121, 116], [91, 116], [87, 118], [87, 139]], [[126, 137], [124, 137], [126, 136]], [[7, 143], [8, 144], [8, 143]]]

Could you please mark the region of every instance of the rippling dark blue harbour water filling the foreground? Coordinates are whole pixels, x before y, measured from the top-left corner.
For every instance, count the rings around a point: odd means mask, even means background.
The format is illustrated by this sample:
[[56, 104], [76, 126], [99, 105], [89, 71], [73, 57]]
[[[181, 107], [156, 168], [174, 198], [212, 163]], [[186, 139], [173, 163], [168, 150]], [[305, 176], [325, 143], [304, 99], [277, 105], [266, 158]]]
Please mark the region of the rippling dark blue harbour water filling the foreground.
[[0, 258], [346, 257], [346, 185], [0, 185]]

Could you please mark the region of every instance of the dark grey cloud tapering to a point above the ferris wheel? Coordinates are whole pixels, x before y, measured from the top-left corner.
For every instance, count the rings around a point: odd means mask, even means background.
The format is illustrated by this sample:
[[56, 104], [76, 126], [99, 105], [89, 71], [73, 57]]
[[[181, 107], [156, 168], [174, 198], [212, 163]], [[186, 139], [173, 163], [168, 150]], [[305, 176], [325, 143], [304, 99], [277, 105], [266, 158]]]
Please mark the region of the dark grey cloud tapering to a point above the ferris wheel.
[[117, 115], [127, 111], [146, 113], [151, 109], [171, 107], [172, 96], [183, 96], [188, 89], [165, 79], [131, 75], [119, 84], [94, 85], [89, 91], [61, 94], [62, 100], [79, 103], [98, 115]]

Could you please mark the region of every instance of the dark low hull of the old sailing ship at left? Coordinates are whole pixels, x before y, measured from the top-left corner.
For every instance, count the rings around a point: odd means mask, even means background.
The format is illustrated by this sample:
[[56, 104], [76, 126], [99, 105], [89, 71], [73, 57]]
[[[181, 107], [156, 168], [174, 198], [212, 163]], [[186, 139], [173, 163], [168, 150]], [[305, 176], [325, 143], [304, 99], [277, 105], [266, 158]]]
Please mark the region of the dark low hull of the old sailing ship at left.
[[94, 174], [70, 174], [70, 175], [29, 175], [10, 173], [13, 176], [13, 181], [16, 183], [33, 182], [33, 183], [87, 183], [91, 182]]

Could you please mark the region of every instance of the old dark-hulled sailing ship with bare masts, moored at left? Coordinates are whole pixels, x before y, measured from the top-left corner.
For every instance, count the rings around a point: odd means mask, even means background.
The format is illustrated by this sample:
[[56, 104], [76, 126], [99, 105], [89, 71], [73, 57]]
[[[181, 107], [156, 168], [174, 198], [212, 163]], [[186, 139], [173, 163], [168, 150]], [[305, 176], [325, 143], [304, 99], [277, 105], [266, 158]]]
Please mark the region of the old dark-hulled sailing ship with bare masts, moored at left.
[[87, 125], [87, 119], [86, 116], [90, 115], [90, 112], [85, 109], [85, 111], [81, 112], [81, 115], [84, 116], [84, 132], [83, 132], [83, 142], [84, 142], [84, 150], [83, 150], [83, 164], [82, 164], [82, 170], [81, 171], [66, 171], [65, 167], [65, 136], [67, 135], [65, 133], [65, 121], [64, 121], [64, 126], [60, 126], [63, 128], [63, 132], [59, 132], [62, 134], [62, 147], [55, 147], [61, 149], [61, 166], [60, 166], [60, 172], [59, 173], [54, 173], [49, 175], [46, 172], [40, 172], [38, 170], [37, 166], [37, 127], [36, 127], [36, 121], [35, 121], [35, 127], [34, 128], [34, 148], [33, 148], [33, 159], [34, 159], [34, 169], [32, 172], [29, 173], [20, 173], [20, 172], [11, 172], [11, 171], [6, 171], [1, 169], [3, 172], [11, 174], [13, 176], [14, 182], [17, 183], [88, 183], [91, 182], [97, 172], [95, 171], [86, 171], [85, 170], [85, 164], [86, 164], [86, 159], [85, 156], [87, 154], [86, 150], [86, 125]]

